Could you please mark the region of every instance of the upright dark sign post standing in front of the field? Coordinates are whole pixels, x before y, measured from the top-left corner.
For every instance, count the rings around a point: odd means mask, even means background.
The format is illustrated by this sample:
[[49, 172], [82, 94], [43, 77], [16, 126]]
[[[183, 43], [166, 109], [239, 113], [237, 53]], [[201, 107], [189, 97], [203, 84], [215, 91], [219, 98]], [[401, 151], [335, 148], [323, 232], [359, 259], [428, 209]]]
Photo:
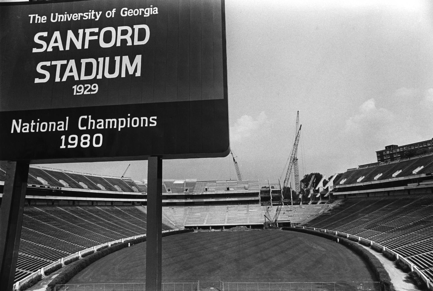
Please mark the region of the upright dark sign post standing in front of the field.
[[162, 158], [147, 160], [146, 290], [162, 290]]

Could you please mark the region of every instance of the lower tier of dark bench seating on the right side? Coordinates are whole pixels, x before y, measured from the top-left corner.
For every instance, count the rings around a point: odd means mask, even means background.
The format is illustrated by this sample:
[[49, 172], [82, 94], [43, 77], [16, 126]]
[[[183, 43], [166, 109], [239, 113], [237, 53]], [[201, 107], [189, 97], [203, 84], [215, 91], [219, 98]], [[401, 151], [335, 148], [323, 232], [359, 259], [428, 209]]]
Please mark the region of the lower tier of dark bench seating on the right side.
[[[412, 167], [417, 163], [411, 163]], [[391, 172], [395, 169], [390, 169]], [[433, 196], [347, 199], [305, 226], [364, 237], [406, 257], [433, 280]]]

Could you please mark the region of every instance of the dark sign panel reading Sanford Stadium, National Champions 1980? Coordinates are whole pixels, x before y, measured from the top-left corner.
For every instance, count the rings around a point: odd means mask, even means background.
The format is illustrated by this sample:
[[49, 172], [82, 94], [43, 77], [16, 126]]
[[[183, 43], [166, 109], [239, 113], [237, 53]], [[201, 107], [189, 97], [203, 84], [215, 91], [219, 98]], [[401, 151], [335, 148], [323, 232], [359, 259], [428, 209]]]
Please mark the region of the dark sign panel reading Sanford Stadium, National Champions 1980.
[[0, 160], [225, 156], [224, 2], [0, 6]]

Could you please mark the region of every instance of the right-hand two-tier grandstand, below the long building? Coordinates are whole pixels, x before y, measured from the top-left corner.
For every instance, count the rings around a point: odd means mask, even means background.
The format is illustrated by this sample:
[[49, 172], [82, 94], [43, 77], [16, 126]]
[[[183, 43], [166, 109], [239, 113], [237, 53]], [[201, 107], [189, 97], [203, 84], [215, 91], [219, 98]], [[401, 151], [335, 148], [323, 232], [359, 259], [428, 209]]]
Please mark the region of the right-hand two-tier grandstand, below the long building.
[[301, 225], [341, 231], [406, 257], [433, 282], [433, 155], [349, 169], [323, 193], [337, 207]]

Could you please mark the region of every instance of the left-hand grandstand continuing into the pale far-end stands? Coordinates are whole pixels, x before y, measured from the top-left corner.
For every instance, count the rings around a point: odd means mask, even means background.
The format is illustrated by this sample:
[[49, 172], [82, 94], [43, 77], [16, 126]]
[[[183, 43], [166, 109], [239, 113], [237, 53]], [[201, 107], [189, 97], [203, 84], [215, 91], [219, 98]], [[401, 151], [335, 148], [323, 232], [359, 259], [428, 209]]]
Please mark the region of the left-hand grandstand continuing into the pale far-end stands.
[[[0, 192], [6, 167], [0, 164]], [[281, 204], [281, 187], [258, 181], [164, 180], [163, 229], [262, 228]], [[0, 201], [3, 194], [0, 193]], [[146, 233], [147, 187], [129, 178], [30, 167], [15, 281], [73, 253]], [[284, 206], [296, 225], [332, 205]]]

